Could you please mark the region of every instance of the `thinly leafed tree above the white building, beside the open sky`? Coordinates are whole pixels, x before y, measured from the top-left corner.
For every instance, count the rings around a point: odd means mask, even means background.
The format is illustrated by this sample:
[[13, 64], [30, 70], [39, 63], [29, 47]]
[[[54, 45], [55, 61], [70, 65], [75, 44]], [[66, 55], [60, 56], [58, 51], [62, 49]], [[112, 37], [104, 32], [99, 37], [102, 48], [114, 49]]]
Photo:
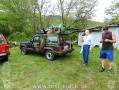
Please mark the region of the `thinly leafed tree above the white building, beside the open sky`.
[[79, 25], [81, 29], [87, 27], [87, 22], [93, 16], [97, 0], [79, 0], [75, 6], [75, 21], [73, 24]]

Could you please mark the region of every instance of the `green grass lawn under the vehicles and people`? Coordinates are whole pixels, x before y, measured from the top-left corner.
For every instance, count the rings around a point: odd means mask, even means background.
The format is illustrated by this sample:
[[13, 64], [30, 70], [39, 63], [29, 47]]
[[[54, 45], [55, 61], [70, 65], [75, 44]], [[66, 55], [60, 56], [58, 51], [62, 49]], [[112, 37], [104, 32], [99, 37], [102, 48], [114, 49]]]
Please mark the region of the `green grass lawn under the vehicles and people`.
[[0, 65], [0, 90], [119, 90], [119, 51], [115, 50], [114, 74], [108, 72], [108, 62], [106, 71], [99, 72], [99, 51], [91, 50], [85, 66], [77, 46], [54, 61], [12, 48], [9, 62]]

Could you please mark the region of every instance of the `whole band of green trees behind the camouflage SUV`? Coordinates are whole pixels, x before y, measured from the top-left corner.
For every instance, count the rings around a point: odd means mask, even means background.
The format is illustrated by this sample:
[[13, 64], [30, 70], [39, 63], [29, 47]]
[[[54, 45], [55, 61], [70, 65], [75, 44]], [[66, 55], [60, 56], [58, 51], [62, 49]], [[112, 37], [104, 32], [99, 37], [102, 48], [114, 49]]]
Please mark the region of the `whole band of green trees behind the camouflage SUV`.
[[57, 5], [50, 0], [1, 0], [0, 32], [20, 40], [51, 24], [84, 29], [96, 25], [89, 20], [96, 4], [97, 0], [57, 0]]

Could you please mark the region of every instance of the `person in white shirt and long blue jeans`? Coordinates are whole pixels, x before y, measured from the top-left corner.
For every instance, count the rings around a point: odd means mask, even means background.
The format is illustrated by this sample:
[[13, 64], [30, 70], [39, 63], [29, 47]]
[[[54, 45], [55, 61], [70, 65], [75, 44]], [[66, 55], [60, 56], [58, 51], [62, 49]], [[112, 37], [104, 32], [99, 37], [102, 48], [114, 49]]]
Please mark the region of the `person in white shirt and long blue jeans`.
[[82, 49], [83, 49], [84, 64], [88, 65], [89, 51], [90, 51], [90, 46], [92, 44], [92, 37], [91, 35], [89, 35], [89, 30], [86, 30], [85, 34], [82, 35], [81, 41], [83, 42]]

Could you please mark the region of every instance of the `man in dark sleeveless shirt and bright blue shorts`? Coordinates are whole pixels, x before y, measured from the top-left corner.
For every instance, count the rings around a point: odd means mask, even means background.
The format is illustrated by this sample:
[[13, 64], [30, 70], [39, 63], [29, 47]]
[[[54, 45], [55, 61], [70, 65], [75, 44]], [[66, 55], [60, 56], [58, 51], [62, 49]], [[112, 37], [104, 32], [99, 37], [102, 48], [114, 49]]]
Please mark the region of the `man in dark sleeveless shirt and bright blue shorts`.
[[109, 60], [109, 71], [112, 72], [112, 64], [113, 64], [113, 43], [116, 43], [115, 34], [108, 30], [108, 26], [103, 28], [102, 33], [102, 49], [100, 51], [100, 59], [101, 59], [101, 67], [100, 72], [105, 71], [105, 59]]

